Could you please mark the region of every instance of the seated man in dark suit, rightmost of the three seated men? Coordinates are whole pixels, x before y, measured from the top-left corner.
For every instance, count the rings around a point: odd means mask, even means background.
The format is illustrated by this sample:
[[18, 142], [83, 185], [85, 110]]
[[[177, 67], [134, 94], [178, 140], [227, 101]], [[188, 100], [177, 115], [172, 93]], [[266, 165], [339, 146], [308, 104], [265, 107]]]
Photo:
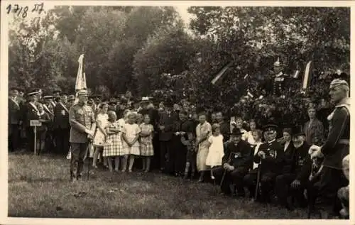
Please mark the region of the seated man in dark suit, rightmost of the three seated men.
[[278, 203], [286, 209], [293, 209], [288, 197], [293, 196], [301, 207], [307, 206], [303, 192], [308, 186], [312, 162], [308, 150], [310, 144], [305, 142], [302, 127], [293, 129], [293, 149], [290, 157], [285, 157], [282, 174], [275, 180], [275, 194]]

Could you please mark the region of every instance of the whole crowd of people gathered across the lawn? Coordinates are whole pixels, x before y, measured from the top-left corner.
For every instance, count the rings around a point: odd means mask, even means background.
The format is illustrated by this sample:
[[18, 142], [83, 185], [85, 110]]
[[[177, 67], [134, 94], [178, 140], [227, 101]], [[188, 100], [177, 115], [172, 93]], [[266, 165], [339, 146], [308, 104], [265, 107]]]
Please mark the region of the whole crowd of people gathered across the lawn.
[[[82, 177], [93, 146], [94, 168], [100, 159], [111, 172], [132, 172], [139, 158], [143, 172], [156, 168], [183, 179], [199, 174], [199, 182], [208, 175], [225, 194], [244, 197], [249, 190], [260, 202], [288, 209], [315, 205], [322, 218], [340, 209], [349, 216], [349, 84], [342, 79], [330, 84], [335, 109], [329, 129], [317, 120], [312, 104], [304, 126], [280, 127], [277, 121], [259, 124], [239, 115], [225, 121], [222, 110], [207, 115], [188, 101], [155, 107], [148, 97], [102, 99], [84, 89], [77, 98], [60, 92], [42, 97], [37, 89], [25, 101], [20, 93], [13, 87], [9, 94], [9, 149], [21, 148], [24, 130], [28, 150], [70, 152], [72, 181]], [[31, 120], [42, 122], [38, 146]]]

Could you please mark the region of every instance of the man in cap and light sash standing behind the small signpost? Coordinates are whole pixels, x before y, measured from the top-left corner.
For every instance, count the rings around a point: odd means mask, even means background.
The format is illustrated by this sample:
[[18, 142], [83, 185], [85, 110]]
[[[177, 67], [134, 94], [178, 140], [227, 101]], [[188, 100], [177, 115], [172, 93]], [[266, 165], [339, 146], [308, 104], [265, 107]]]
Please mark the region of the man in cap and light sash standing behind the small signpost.
[[25, 124], [26, 129], [26, 138], [28, 140], [28, 151], [34, 151], [34, 138], [35, 133], [33, 131], [33, 126], [30, 126], [31, 120], [36, 120], [38, 118], [39, 111], [37, 109], [38, 103], [38, 93], [37, 92], [30, 92], [27, 94], [28, 96], [28, 103], [25, 105], [23, 109], [23, 121]]

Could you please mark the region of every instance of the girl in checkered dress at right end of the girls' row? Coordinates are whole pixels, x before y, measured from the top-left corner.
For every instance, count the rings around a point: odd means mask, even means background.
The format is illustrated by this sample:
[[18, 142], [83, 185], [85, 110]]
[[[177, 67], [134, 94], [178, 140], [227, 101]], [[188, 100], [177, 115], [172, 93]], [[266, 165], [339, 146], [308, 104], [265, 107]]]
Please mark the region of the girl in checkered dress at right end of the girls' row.
[[139, 126], [141, 128], [141, 155], [143, 155], [143, 170], [149, 172], [151, 167], [151, 156], [154, 155], [153, 149], [153, 125], [149, 124], [151, 118], [148, 114], [144, 115], [144, 123]]

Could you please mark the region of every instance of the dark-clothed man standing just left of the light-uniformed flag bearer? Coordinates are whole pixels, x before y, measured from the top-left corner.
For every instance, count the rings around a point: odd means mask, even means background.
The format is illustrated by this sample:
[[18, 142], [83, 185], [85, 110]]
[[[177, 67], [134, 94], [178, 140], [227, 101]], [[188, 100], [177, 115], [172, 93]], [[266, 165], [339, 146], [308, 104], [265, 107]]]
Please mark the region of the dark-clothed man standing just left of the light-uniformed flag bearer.
[[53, 128], [55, 130], [55, 144], [57, 146], [56, 152], [66, 154], [69, 150], [69, 109], [64, 103], [66, 100], [65, 95], [58, 99], [58, 103], [54, 109]]

